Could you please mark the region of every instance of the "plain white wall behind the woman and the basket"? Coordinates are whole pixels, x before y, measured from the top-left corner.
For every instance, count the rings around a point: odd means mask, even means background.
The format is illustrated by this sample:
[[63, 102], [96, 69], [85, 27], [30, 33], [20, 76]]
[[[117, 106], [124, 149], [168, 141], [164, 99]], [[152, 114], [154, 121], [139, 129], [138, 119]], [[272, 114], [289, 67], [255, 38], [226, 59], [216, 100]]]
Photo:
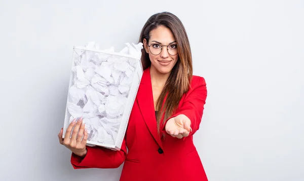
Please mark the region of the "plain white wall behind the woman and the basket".
[[183, 22], [208, 98], [195, 143], [210, 181], [304, 180], [303, 1], [0, 1], [0, 180], [118, 180], [73, 170], [58, 142], [72, 47]]

